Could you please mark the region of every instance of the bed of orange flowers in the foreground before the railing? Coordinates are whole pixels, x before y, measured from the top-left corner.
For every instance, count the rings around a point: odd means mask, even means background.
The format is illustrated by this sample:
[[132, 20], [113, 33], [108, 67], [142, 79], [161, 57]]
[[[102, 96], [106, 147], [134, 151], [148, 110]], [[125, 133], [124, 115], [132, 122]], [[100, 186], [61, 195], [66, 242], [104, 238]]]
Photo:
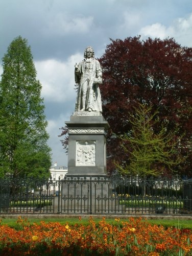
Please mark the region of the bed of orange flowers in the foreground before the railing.
[[58, 222], [30, 225], [19, 218], [15, 228], [0, 226], [1, 255], [191, 255], [192, 230], [152, 225], [140, 218], [105, 219], [87, 225]]

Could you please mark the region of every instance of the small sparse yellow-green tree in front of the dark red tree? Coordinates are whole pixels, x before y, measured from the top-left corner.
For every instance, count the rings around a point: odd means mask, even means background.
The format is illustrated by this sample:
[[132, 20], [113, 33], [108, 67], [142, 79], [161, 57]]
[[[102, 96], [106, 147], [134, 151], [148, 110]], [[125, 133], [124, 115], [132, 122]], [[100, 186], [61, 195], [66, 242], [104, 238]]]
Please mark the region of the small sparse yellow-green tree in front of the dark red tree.
[[163, 127], [155, 133], [153, 127], [158, 122], [157, 116], [158, 111], [152, 113], [152, 106], [139, 104], [135, 108], [130, 120], [132, 129], [121, 136], [129, 164], [116, 164], [120, 173], [142, 178], [167, 175], [174, 172], [174, 167], [181, 163], [178, 136], [173, 132], [167, 135]]

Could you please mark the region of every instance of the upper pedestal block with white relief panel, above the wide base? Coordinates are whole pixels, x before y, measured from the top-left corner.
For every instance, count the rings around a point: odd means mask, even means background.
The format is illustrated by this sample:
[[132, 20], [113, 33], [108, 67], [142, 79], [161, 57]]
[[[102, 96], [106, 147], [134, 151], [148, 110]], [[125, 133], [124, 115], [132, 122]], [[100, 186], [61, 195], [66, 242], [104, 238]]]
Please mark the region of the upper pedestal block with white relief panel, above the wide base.
[[78, 111], [65, 122], [68, 127], [68, 173], [106, 174], [106, 132], [109, 124], [100, 112]]

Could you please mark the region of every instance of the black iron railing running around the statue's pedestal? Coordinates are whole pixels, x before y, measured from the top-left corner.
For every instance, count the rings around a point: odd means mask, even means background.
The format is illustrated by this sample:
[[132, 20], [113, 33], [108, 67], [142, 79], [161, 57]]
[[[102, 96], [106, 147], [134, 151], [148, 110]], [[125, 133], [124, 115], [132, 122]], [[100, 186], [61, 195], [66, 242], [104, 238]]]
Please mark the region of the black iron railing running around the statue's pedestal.
[[0, 180], [0, 214], [192, 214], [192, 180]]

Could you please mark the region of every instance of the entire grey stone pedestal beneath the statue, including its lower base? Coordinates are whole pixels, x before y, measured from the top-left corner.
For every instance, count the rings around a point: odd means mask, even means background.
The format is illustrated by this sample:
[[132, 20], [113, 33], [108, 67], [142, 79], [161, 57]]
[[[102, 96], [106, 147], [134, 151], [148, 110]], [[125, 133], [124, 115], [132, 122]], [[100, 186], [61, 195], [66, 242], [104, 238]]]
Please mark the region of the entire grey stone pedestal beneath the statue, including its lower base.
[[114, 213], [112, 182], [106, 176], [106, 132], [100, 112], [78, 111], [68, 127], [68, 172], [62, 180], [62, 213]]

